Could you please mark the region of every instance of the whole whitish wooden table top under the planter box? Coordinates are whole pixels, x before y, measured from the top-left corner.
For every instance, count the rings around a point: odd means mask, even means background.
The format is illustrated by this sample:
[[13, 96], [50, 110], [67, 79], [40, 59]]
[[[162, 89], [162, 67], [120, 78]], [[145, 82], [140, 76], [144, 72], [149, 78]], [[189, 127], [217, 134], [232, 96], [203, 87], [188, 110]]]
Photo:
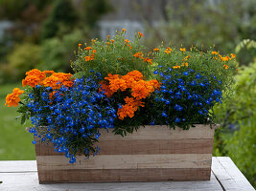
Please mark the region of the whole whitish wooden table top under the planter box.
[[111, 182], [39, 184], [35, 160], [1, 160], [0, 191], [253, 191], [234, 162], [228, 157], [213, 157], [211, 180], [165, 182]]

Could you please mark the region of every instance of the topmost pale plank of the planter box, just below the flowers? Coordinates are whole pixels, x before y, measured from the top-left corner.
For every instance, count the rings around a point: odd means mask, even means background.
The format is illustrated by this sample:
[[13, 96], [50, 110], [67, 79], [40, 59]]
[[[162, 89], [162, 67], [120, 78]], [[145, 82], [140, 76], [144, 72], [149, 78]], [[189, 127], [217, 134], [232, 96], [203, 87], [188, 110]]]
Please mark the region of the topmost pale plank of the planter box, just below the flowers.
[[183, 130], [176, 127], [170, 129], [168, 126], [155, 125], [140, 127], [137, 132], [128, 134], [126, 137], [107, 133], [106, 130], [101, 130], [100, 141], [102, 140], [128, 140], [128, 139], [184, 139], [184, 138], [213, 138], [215, 128], [211, 129], [209, 125], [197, 125], [190, 130]]

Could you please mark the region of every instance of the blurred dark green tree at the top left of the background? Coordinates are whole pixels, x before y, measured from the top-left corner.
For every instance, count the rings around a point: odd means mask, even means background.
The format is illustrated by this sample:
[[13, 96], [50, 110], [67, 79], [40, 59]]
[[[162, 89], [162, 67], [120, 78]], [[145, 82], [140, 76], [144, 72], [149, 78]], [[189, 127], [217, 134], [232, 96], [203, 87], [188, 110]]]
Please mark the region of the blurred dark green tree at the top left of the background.
[[70, 0], [57, 0], [53, 11], [42, 26], [41, 39], [56, 36], [61, 26], [65, 26], [66, 32], [71, 32], [77, 18], [75, 8], [73, 8]]

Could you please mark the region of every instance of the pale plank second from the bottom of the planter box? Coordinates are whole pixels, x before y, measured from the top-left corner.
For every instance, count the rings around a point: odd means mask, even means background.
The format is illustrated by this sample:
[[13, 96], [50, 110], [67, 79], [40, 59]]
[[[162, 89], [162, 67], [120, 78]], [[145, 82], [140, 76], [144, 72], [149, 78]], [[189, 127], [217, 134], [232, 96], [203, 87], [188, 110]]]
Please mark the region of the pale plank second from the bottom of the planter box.
[[70, 164], [63, 156], [37, 156], [38, 171], [51, 169], [143, 169], [210, 168], [211, 154], [101, 155], [91, 159], [77, 157]]

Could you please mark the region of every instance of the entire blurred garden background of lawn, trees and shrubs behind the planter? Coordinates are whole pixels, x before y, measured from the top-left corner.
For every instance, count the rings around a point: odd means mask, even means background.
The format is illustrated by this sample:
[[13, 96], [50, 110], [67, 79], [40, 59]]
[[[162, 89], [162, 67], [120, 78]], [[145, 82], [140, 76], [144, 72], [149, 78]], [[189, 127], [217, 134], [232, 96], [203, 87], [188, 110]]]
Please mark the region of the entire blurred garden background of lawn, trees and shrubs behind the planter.
[[[37, 68], [70, 72], [78, 44], [127, 29], [143, 32], [151, 50], [171, 46], [213, 47], [236, 53], [233, 95], [215, 108], [215, 156], [228, 156], [256, 186], [256, 3], [255, 0], [0, 0], [0, 160], [35, 159], [32, 136], [7, 108], [5, 96], [21, 88]], [[165, 46], [169, 46], [168, 44]], [[151, 50], [145, 50], [151, 52]]]

